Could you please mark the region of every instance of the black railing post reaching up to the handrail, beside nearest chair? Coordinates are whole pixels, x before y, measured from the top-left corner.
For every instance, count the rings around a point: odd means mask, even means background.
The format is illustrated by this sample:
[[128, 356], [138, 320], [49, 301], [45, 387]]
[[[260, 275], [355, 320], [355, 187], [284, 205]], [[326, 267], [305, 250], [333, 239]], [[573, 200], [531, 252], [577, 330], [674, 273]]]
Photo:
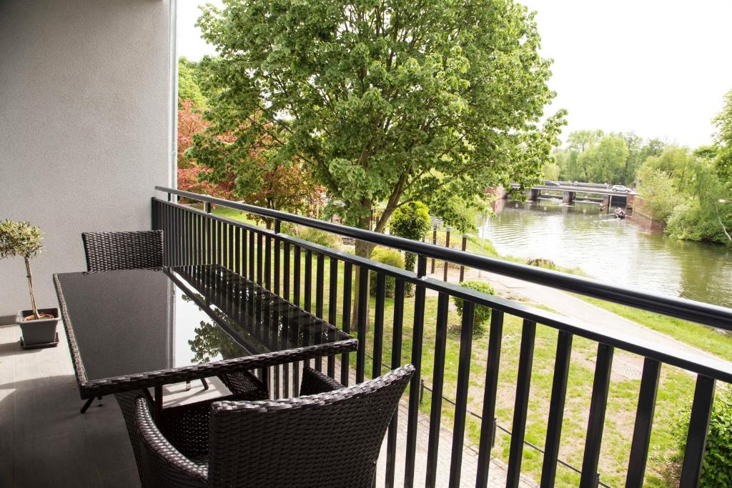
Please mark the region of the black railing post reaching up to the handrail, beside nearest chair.
[[[427, 258], [417, 256], [417, 276], [427, 274]], [[422, 372], [422, 333], [425, 328], [425, 287], [417, 284], [414, 290], [414, 328], [412, 329], [411, 364], [414, 376], [409, 383], [409, 415], [407, 418], [406, 458], [404, 465], [404, 485], [414, 486], [414, 460], [417, 456], [417, 421], [419, 420], [419, 384]]]

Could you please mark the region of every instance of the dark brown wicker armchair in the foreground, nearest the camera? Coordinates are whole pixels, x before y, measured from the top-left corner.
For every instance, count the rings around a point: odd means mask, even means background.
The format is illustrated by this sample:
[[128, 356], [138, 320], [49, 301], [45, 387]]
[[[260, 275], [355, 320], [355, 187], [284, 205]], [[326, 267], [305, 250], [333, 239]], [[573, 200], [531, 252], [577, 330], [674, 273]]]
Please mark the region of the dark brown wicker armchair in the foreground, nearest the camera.
[[[414, 375], [408, 364], [344, 388], [305, 368], [302, 397], [217, 399], [164, 409], [149, 394], [117, 394], [143, 487], [367, 487], [395, 409]], [[195, 412], [195, 414], [194, 414]]]

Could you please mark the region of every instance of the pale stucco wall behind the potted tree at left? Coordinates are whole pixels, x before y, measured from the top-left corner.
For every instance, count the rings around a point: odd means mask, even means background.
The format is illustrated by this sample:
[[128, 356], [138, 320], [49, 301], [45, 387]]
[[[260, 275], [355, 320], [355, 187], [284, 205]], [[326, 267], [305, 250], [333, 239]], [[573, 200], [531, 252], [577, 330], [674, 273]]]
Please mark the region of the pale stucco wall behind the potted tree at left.
[[[170, 1], [0, 1], [0, 219], [45, 231], [40, 307], [85, 269], [82, 230], [150, 228], [171, 184]], [[22, 258], [0, 260], [0, 323], [26, 308]]]

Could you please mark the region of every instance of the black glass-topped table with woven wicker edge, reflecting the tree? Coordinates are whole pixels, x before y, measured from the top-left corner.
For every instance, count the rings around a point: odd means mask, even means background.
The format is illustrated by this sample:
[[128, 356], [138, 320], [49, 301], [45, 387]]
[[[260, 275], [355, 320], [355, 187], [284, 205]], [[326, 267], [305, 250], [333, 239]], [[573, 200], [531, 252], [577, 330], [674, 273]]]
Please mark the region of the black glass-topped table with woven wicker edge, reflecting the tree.
[[219, 265], [62, 273], [53, 281], [82, 399], [358, 347]]

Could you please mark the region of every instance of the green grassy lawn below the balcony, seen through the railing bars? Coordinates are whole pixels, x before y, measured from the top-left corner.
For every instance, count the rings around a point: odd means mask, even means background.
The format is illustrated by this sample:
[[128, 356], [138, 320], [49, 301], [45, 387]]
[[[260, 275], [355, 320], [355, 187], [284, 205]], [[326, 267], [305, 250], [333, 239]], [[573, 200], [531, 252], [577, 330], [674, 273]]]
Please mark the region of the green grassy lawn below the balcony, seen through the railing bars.
[[[250, 222], [245, 214], [231, 209], [215, 209], [214, 213], [232, 219]], [[495, 255], [490, 242], [485, 241], [480, 247], [479, 239], [468, 239], [468, 250], [486, 255]], [[303, 255], [303, 261], [305, 255]], [[326, 259], [327, 261], [327, 259]], [[294, 260], [291, 260], [294, 263]], [[303, 263], [304, 266], [304, 263]], [[315, 258], [313, 258], [313, 283], [315, 283]], [[301, 273], [301, 289], [304, 289], [305, 273]], [[291, 275], [292, 276], [292, 275]], [[285, 277], [282, 277], [284, 280]], [[291, 279], [291, 278], [290, 278]], [[355, 280], [355, 275], [354, 275]], [[343, 263], [339, 265], [338, 290], [343, 287]], [[291, 285], [291, 290], [293, 289]], [[313, 297], [311, 309], [315, 310], [315, 288], [313, 285]], [[329, 263], [325, 263], [324, 271], [324, 310], [328, 310], [329, 301]], [[341, 324], [343, 298], [339, 296], [337, 304], [338, 326]], [[660, 315], [647, 312], [639, 312], [635, 309], [627, 309], [614, 304], [599, 303], [601, 307], [609, 309], [618, 315], [636, 320], [651, 329], [659, 330], [672, 337], [676, 337], [692, 345], [719, 354], [726, 359], [732, 358], [732, 344], [729, 339], [722, 337], [711, 329], [695, 324], [684, 323], [681, 320], [665, 318]], [[302, 304], [301, 304], [302, 305]], [[375, 300], [370, 301], [370, 329], [373, 330], [373, 318], [375, 317]], [[393, 299], [386, 299], [384, 311], [384, 357], [383, 363], [389, 364], [392, 354], [392, 319], [394, 303]], [[436, 312], [437, 297], [433, 294], [427, 296], [425, 307], [425, 329], [424, 346], [422, 349], [422, 379], [427, 386], [433, 384], [433, 372], [436, 367], [434, 346], [436, 341]], [[403, 323], [403, 346], [402, 364], [411, 360], [412, 348], [412, 325], [414, 318], [414, 299], [407, 298], [404, 306]], [[444, 397], [455, 399], [456, 384], [458, 379], [458, 356], [460, 351], [459, 328], [460, 317], [455, 312], [452, 300], [449, 307], [448, 334], [446, 345], [446, 356], [444, 363]], [[513, 403], [515, 398], [516, 377], [518, 374], [518, 357], [521, 339], [521, 319], [506, 315], [504, 318], [504, 333], [501, 348], [501, 362], [499, 371], [498, 394], [496, 397], [496, 417], [498, 424], [511, 429], [513, 417]], [[486, 329], [488, 326], [486, 326]], [[354, 331], [355, 324], [351, 326]], [[356, 335], [355, 332], [352, 334]], [[367, 333], [367, 364], [366, 375], [370, 377], [372, 369], [370, 356], [373, 354], [373, 331]], [[548, 419], [549, 399], [553, 379], [553, 365], [556, 352], [557, 332], [547, 326], [538, 325], [534, 348], [534, 364], [531, 375], [531, 395], [529, 402], [529, 413], [526, 424], [526, 440], [543, 448], [546, 435], [546, 423]], [[475, 336], [472, 342], [471, 372], [469, 378], [468, 410], [480, 414], [482, 412], [482, 398], [485, 386], [485, 368], [488, 356], [488, 332]], [[589, 403], [591, 396], [592, 381], [594, 375], [594, 359], [597, 356], [597, 343], [575, 337], [572, 345], [572, 361], [569, 369], [569, 381], [567, 386], [567, 402], [564, 410], [564, 426], [561, 438], [560, 458], [580, 468], [583, 457], [583, 447], [587, 421], [589, 416]], [[355, 367], [355, 353], [351, 354], [351, 367]], [[324, 361], [325, 363], [325, 361]], [[600, 476], [602, 481], [611, 486], [624, 484], [624, 473], [627, 469], [627, 462], [630, 453], [630, 442], [632, 439], [633, 423], [635, 421], [635, 409], [638, 401], [640, 379], [634, 375], [623, 374], [626, 369], [637, 371], [642, 367], [642, 358], [616, 350], [612, 380], [610, 383], [610, 398], [605, 419], [605, 432], [600, 455]], [[662, 368], [661, 383], [657, 397], [657, 407], [654, 417], [653, 433], [651, 436], [651, 448], [646, 470], [646, 485], [651, 487], [664, 487], [670, 484], [678, 484], [673, 479], [674, 466], [672, 460], [676, 456], [676, 442], [673, 440], [671, 429], [675, 423], [676, 412], [683, 405], [692, 400], [694, 389], [694, 378], [692, 375], [673, 368], [664, 366]], [[424, 401], [421, 409], [424, 413], [430, 412], [431, 397], [429, 391], [425, 391]], [[447, 402], [442, 402], [441, 418], [445, 427], [452, 428], [455, 414], [454, 407]], [[404, 421], [404, 419], [402, 420]], [[466, 437], [477, 445], [480, 435], [480, 421], [473, 416], [466, 418]], [[510, 437], [498, 430], [496, 434], [496, 445], [492, 454], [498, 459], [507, 462]], [[542, 467], [542, 454], [528, 446], [523, 451], [523, 473], [538, 481]], [[559, 465], [557, 469], [558, 486], [576, 486], [579, 476], [568, 468]]]

